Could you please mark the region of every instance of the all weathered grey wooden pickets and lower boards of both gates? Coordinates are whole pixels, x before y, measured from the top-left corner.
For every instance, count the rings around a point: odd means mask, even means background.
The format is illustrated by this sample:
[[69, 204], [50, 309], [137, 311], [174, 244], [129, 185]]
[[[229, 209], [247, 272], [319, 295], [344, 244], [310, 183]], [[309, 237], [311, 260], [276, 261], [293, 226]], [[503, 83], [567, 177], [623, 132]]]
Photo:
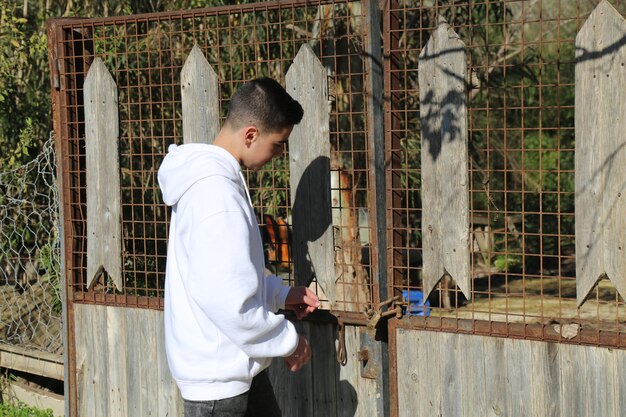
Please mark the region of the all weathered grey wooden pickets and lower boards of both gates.
[[[626, 110], [618, 96], [626, 80], [625, 28], [619, 13], [602, 1], [576, 39], [579, 306], [604, 275], [622, 297], [626, 295], [626, 268], [620, 256], [626, 236], [626, 223], [620, 216], [621, 167], [626, 166], [622, 152], [626, 142], [621, 132], [626, 126], [623, 118], [608, 116], [616, 108], [617, 114]], [[454, 280], [460, 291], [471, 297], [468, 72], [463, 39], [441, 22], [423, 49], [419, 65], [424, 291], [428, 295], [442, 279]], [[357, 270], [362, 265], [352, 263], [354, 269], [350, 271], [337, 268], [331, 233], [327, 78], [324, 67], [306, 45], [286, 75], [288, 91], [305, 109], [289, 149], [294, 266], [298, 283], [308, 284], [315, 278], [328, 301], [326, 307], [362, 306], [376, 299], [371, 294], [373, 286], [367, 274]], [[104, 63], [96, 58], [85, 85], [86, 120], [92, 121], [85, 138], [86, 171], [91, 173], [86, 192], [88, 205], [99, 205], [99, 217], [106, 218], [103, 222], [88, 212], [87, 240], [97, 236], [107, 243], [98, 248], [88, 246], [87, 282], [91, 286], [104, 273], [119, 289], [122, 286], [116, 268], [122, 258], [121, 252], [115, 253], [119, 235], [111, 224], [121, 222], [120, 192], [115, 181], [105, 175], [120, 169], [116, 157], [107, 157], [116, 154], [118, 135], [110, 126], [119, 105], [112, 81]], [[215, 97], [217, 83], [215, 71], [194, 47], [181, 75], [185, 142], [210, 141], [219, 130], [218, 109], [212, 107], [219, 102]], [[384, 164], [380, 159], [377, 162], [384, 174]], [[384, 236], [387, 231], [385, 227], [372, 232]], [[349, 241], [346, 237], [344, 242]], [[345, 247], [350, 249], [349, 244]], [[387, 255], [384, 250], [382, 258]], [[353, 252], [360, 250], [353, 248]], [[354, 259], [352, 255], [342, 256]], [[354, 280], [350, 291], [338, 290], [340, 274]], [[377, 284], [393, 289], [386, 282]], [[400, 304], [395, 307], [400, 309]], [[165, 361], [161, 311], [81, 303], [72, 308], [76, 356], [69, 358], [75, 361], [69, 369], [76, 369], [72, 389], [77, 415], [181, 414], [180, 396]], [[314, 356], [299, 373], [288, 372], [278, 360], [270, 368], [284, 414], [620, 416], [626, 410], [623, 333], [610, 335], [613, 339], [609, 344], [618, 349], [606, 349], [552, 343], [569, 341], [563, 332], [566, 323], [543, 323], [535, 331], [525, 322], [405, 316], [392, 318], [388, 325], [388, 329], [379, 326], [375, 335], [375, 323], [369, 329], [342, 321], [298, 323], [299, 331], [312, 341]], [[381, 337], [380, 333], [387, 330]], [[578, 330], [576, 327], [576, 335]], [[388, 344], [380, 341], [385, 336]], [[579, 342], [598, 344], [598, 340], [581, 338]]]

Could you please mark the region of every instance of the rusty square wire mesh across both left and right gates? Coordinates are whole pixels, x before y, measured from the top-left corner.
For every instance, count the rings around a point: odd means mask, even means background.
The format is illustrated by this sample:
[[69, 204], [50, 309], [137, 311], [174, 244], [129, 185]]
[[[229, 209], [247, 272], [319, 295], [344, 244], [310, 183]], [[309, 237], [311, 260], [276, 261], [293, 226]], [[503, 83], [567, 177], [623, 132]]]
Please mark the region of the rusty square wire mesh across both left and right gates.
[[[418, 57], [440, 18], [468, 51], [471, 296], [445, 281], [426, 300], [428, 306], [418, 307], [429, 317], [405, 317], [403, 326], [624, 346], [625, 305], [610, 281], [600, 280], [576, 308], [574, 42], [596, 4], [415, 0], [386, 5], [389, 242], [382, 249], [388, 251], [393, 295], [408, 302], [417, 301], [423, 289]], [[625, 13], [623, 2], [612, 4]], [[263, 75], [284, 82], [295, 53], [308, 43], [327, 68], [330, 88], [340, 293], [335, 308], [360, 312], [376, 301], [369, 277], [373, 222], [368, 205], [376, 196], [368, 191], [367, 18], [361, 2], [319, 1], [63, 21], [58, 68], [72, 299], [162, 307], [168, 211], [156, 172], [167, 146], [182, 141], [179, 73], [191, 47], [197, 43], [216, 69], [223, 117], [237, 86]], [[85, 287], [82, 80], [96, 56], [119, 88], [123, 291], [107, 282]], [[268, 266], [292, 283], [288, 149], [247, 178]], [[356, 300], [348, 296], [355, 284], [347, 278], [355, 274], [364, 274], [366, 281]]]

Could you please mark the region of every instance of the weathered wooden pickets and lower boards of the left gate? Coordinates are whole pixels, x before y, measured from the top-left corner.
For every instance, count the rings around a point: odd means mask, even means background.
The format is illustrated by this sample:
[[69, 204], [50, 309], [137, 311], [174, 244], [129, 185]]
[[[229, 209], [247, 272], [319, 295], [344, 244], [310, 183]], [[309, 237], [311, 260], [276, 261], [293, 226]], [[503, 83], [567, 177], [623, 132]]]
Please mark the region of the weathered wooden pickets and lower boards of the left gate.
[[[358, 294], [336, 292], [334, 245], [330, 202], [330, 141], [326, 72], [307, 45], [287, 73], [287, 90], [305, 111], [290, 139], [290, 169], [294, 223], [294, 262], [299, 285], [318, 282], [330, 306], [337, 301], [354, 304], [367, 300], [367, 287], [354, 286]], [[217, 77], [199, 48], [194, 47], [181, 75], [184, 141], [210, 143], [220, 125], [216, 107]], [[106, 274], [117, 288], [121, 265], [121, 202], [117, 157], [117, 86], [99, 58], [85, 80], [88, 123], [87, 249], [88, 287]], [[363, 278], [362, 275], [350, 274]], [[351, 297], [349, 300], [341, 297]], [[340, 297], [340, 300], [337, 300]], [[181, 402], [170, 377], [164, 354], [162, 312], [111, 306], [76, 305], [76, 367], [78, 414], [93, 416], [180, 415]], [[137, 325], [141, 323], [141, 329]], [[358, 328], [343, 328], [346, 357], [336, 360], [336, 326], [301, 323], [300, 331], [313, 344], [310, 366], [292, 375], [282, 361], [272, 366], [272, 379], [281, 391], [285, 415], [336, 415], [356, 410], [357, 388], [367, 393], [359, 415], [376, 414], [375, 383], [360, 380]], [[145, 349], [149, 346], [150, 349]], [[143, 366], [141, 364], [144, 364]], [[145, 366], [150, 364], [150, 366]], [[106, 372], [103, 372], [106, 370]], [[303, 393], [315, 400], [300, 401]], [[106, 399], [106, 400], [103, 400]], [[169, 413], [169, 414], [168, 414]]]

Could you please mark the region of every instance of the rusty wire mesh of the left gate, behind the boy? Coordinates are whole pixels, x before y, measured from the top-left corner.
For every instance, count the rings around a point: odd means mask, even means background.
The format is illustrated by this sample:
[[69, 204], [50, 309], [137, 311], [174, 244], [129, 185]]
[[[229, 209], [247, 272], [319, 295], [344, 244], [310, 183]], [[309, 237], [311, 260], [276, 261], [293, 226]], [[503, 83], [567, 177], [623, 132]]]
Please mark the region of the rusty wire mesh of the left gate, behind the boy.
[[[270, 76], [284, 83], [300, 46], [308, 43], [315, 51], [328, 72], [332, 170], [347, 178], [335, 186], [343, 198], [336, 200], [333, 207], [338, 219], [336, 242], [341, 242], [342, 230], [358, 220], [358, 213], [366, 213], [364, 18], [360, 2], [317, 1], [59, 21], [58, 68], [63, 96], [59, 117], [66, 129], [63, 169], [69, 180], [65, 213], [72, 233], [68, 237], [71, 245], [67, 264], [71, 298], [78, 302], [162, 307], [169, 214], [161, 201], [156, 175], [167, 147], [182, 142], [180, 71], [194, 44], [218, 74], [222, 118], [229, 97], [243, 82]], [[122, 291], [104, 279], [94, 288], [86, 288], [82, 82], [95, 57], [104, 61], [118, 86]], [[266, 239], [268, 266], [293, 283], [288, 250], [291, 213], [287, 161], [288, 152], [263, 170], [246, 175], [265, 234], [278, 232], [274, 233], [274, 240]], [[342, 220], [349, 216], [352, 223]], [[368, 230], [366, 219], [361, 216], [357, 230]], [[281, 226], [273, 229], [272, 225]], [[367, 259], [367, 241], [359, 240], [358, 246], [365, 248], [358, 250], [359, 259], [362, 252]], [[342, 253], [340, 244], [335, 251]], [[282, 258], [277, 256], [281, 253]], [[353, 268], [341, 260], [338, 265]], [[350, 285], [339, 279], [338, 291], [349, 292]], [[370, 301], [370, 296], [351, 298], [336, 307], [358, 311]]]

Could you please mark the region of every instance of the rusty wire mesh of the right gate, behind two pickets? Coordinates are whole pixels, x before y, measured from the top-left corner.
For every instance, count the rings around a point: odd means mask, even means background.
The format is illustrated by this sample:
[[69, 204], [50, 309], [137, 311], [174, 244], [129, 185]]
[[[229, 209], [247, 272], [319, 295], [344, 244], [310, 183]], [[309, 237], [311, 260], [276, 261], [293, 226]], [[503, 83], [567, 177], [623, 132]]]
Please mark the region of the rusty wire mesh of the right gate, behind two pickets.
[[472, 291], [467, 299], [442, 281], [430, 317], [414, 326], [625, 346], [626, 306], [610, 281], [576, 303], [575, 38], [597, 3], [391, 2], [385, 89], [396, 294], [417, 298], [423, 289], [418, 56], [442, 18], [468, 56]]

